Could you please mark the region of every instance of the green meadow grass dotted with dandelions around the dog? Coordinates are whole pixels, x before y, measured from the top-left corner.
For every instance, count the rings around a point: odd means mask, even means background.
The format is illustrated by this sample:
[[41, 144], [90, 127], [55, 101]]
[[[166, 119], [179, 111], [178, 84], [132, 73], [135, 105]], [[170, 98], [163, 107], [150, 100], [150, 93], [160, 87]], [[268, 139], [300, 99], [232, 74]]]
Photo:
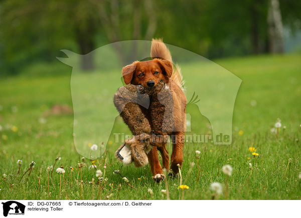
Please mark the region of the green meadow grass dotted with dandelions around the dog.
[[[225, 184], [226, 177], [221, 170], [225, 164], [233, 167], [232, 176], [229, 177], [229, 199], [301, 199], [301, 179], [298, 179], [301, 172], [301, 145], [298, 140], [301, 136], [300, 58], [301, 55], [293, 54], [216, 61], [242, 79], [233, 113], [233, 140], [231, 145], [185, 144], [182, 182], [189, 186], [185, 190], [185, 199], [211, 199], [210, 184], [215, 181]], [[183, 68], [193, 70], [196, 67], [196, 63], [190, 63]], [[73, 143], [73, 115], [51, 115], [46, 117], [46, 123], [39, 122], [39, 118], [53, 104], [72, 106], [71, 68], [66, 67], [65, 70], [65, 73], [55, 76], [22, 74], [1, 79], [0, 199], [48, 199], [46, 168], [53, 165], [57, 156], [62, 159], [56, 163], [56, 167], [64, 165], [66, 169], [65, 183], [62, 180], [60, 195], [60, 175], [53, 173], [50, 199], [92, 199], [92, 192], [96, 199], [98, 185], [93, 188], [89, 183], [93, 177], [96, 180], [94, 169], [82, 168], [82, 191], [77, 181], [76, 165], [81, 161], [81, 155]], [[194, 74], [187, 73], [185, 79], [193, 78]], [[111, 85], [110, 79], [107, 85]], [[251, 100], [256, 100], [257, 104], [252, 106]], [[13, 106], [17, 106], [18, 111], [12, 112]], [[282, 126], [286, 126], [285, 130], [281, 127], [278, 137], [270, 132], [277, 117], [281, 119]], [[13, 131], [12, 126], [17, 126], [18, 130]], [[201, 133], [210, 131], [208, 119], [202, 117], [193, 130]], [[240, 130], [243, 130], [242, 135], [238, 134]], [[116, 119], [112, 132], [128, 130]], [[256, 147], [259, 156], [252, 157], [248, 151], [251, 145]], [[107, 145], [106, 153], [96, 161], [104, 171], [106, 159], [105, 177], [108, 180], [103, 183], [102, 198], [112, 193], [110, 199], [151, 199], [147, 189], [152, 188], [153, 199], [165, 199], [166, 196], [160, 192], [165, 189], [165, 183], [154, 183], [148, 165], [134, 168], [117, 161], [114, 151], [118, 146], [119, 143]], [[197, 164], [188, 173], [190, 163], [198, 161], [195, 150], [201, 151], [199, 163], [203, 172], [198, 183]], [[289, 158], [291, 161], [287, 167]], [[19, 175], [18, 159], [23, 160]], [[19, 182], [31, 161], [36, 162], [31, 175], [28, 177], [26, 174]], [[249, 162], [253, 164], [252, 171]], [[89, 166], [91, 160], [86, 159], [85, 164]], [[72, 184], [70, 166], [75, 168]], [[125, 183], [121, 176], [113, 174], [116, 169], [135, 188]], [[2, 176], [4, 173], [7, 174], [6, 178]], [[112, 188], [109, 183], [113, 184]], [[179, 183], [179, 177], [168, 178], [171, 199], [179, 199]], [[225, 195], [222, 194], [219, 199], [225, 199]]]

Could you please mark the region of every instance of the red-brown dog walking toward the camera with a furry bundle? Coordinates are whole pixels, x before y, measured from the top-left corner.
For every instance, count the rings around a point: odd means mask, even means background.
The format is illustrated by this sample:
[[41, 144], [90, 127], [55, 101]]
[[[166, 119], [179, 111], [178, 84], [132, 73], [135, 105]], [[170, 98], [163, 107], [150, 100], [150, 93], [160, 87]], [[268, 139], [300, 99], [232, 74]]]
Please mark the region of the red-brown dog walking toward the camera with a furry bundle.
[[[173, 152], [171, 155], [171, 169], [176, 175], [179, 171], [178, 164], [182, 167], [183, 163], [183, 146], [186, 128], [186, 104], [187, 99], [182, 90], [182, 76], [179, 67], [173, 67], [172, 56], [169, 49], [160, 39], [153, 39], [150, 49], [152, 60], [134, 61], [122, 68], [122, 76], [126, 84], [142, 85], [145, 88], [156, 87], [158, 82], [164, 81], [167, 88], [172, 92], [173, 98], [173, 130], [166, 132], [170, 135], [173, 142]], [[175, 68], [175, 70], [174, 70]], [[158, 106], [161, 106], [160, 104]], [[140, 107], [145, 117], [152, 123], [150, 111], [144, 107]], [[154, 131], [156, 134], [158, 132]], [[162, 180], [163, 170], [158, 159], [157, 149], [160, 150], [163, 158], [163, 167], [169, 170], [169, 153], [166, 149], [166, 142], [154, 143], [152, 150], [147, 154], [150, 168], [153, 172], [155, 180]]]

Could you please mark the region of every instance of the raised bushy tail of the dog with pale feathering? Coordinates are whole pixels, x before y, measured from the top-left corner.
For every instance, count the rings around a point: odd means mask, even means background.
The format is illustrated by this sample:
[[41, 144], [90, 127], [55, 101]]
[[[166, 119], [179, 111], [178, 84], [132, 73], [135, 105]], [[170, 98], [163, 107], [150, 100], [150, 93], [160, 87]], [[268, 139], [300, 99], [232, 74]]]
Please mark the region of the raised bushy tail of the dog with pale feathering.
[[[150, 56], [154, 58], [166, 59], [173, 63], [172, 55], [170, 50], [164, 44], [162, 39], [153, 38], [152, 46], [150, 47]], [[178, 64], [174, 66], [174, 72], [171, 79], [175, 81], [184, 90], [184, 81], [181, 74], [181, 68]]]

